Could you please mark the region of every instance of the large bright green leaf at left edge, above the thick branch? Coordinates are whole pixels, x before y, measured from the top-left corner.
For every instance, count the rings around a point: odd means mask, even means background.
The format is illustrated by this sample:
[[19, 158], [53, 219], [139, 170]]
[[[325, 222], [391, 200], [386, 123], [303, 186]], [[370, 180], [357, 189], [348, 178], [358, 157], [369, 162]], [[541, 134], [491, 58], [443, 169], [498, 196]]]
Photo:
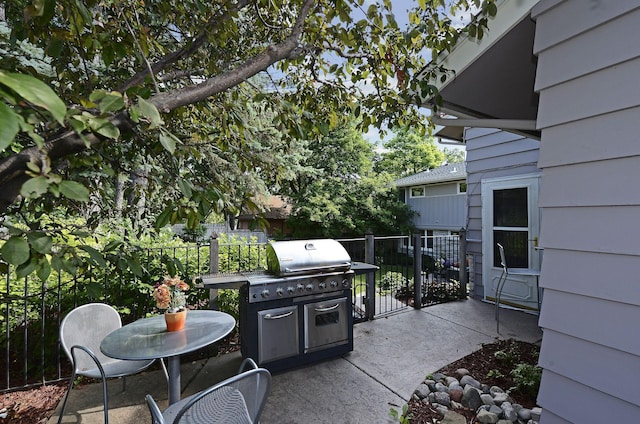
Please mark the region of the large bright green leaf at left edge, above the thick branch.
[[48, 110], [60, 124], [64, 122], [67, 107], [60, 97], [42, 81], [31, 75], [0, 71], [0, 84], [11, 88], [29, 103]]

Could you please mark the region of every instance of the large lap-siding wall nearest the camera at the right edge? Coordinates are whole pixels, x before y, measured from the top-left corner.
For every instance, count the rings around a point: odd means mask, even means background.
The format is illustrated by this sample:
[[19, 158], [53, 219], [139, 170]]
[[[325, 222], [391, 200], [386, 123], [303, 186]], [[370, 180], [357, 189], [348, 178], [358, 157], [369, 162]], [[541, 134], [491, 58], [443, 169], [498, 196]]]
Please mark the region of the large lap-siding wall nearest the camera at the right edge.
[[[640, 3], [541, 1], [542, 423], [636, 422]], [[597, 407], [585, 407], [597, 405]]]

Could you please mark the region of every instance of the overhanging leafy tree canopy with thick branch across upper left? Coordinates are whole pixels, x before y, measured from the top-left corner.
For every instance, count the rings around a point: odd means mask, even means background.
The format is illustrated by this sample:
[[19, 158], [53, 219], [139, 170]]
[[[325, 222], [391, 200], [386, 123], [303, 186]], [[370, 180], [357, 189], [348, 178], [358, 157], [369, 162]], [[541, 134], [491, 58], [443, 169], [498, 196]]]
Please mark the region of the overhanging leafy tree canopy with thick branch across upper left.
[[[46, 276], [72, 231], [55, 217], [162, 227], [237, 210], [291, 179], [298, 140], [340, 116], [424, 128], [413, 105], [447, 76], [425, 52], [486, 27], [457, 28], [445, 3], [418, 0], [407, 28], [388, 0], [4, 3], [2, 258]], [[450, 6], [470, 7], [495, 14], [494, 0]]]

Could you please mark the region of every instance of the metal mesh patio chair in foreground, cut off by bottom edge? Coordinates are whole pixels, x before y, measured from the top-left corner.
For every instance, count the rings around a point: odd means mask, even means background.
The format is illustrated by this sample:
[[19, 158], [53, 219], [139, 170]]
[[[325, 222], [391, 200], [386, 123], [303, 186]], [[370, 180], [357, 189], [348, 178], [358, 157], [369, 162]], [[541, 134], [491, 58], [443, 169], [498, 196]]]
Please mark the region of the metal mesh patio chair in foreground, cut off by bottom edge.
[[[244, 371], [249, 366], [250, 370]], [[152, 424], [253, 424], [260, 420], [271, 387], [271, 373], [247, 358], [238, 374], [192, 396], [164, 412], [146, 396]]]

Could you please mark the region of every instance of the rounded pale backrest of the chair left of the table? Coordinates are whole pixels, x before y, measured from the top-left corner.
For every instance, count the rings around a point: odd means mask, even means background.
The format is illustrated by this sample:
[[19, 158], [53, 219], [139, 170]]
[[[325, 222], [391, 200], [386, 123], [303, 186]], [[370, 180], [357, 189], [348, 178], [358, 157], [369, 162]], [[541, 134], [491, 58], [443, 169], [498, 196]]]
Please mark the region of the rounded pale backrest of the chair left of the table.
[[[113, 330], [122, 327], [120, 314], [104, 303], [89, 303], [78, 306], [67, 314], [60, 324], [60, 344], [73, 363], [71, 347], [81, 345], [89, 348], [101, 363], [112, 361], [100, 352], [102, 339]], [[76, 371], [96, 367], [95, 362], [81, 350], [76, 350]]]

